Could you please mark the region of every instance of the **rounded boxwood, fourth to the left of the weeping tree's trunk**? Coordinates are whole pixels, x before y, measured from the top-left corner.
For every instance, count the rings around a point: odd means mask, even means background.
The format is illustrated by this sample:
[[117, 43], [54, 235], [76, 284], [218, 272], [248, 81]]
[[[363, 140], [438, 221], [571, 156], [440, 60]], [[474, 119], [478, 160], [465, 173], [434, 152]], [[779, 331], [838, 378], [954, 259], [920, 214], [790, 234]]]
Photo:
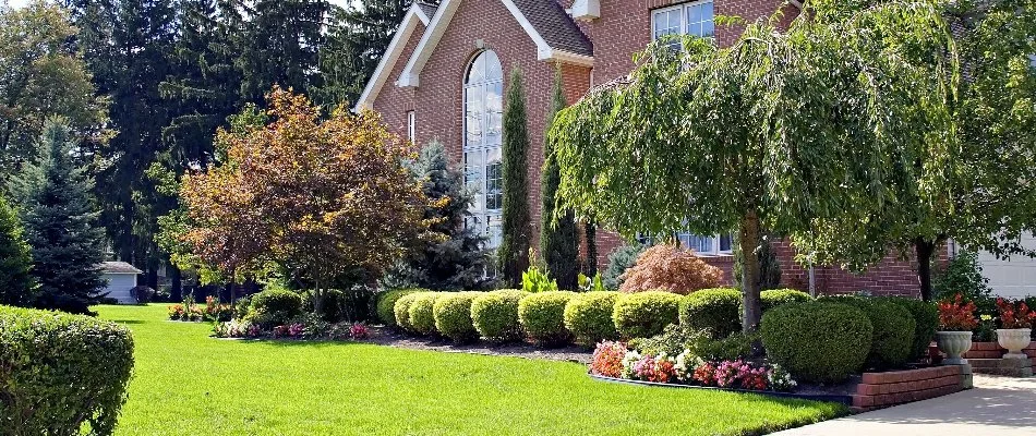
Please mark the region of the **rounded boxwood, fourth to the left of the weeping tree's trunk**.
[[518, 322], [533, 343], [552, 346], [571, 340], [565, 328], [565, 306], [575, 292], [539, 292], [518, 302]]

